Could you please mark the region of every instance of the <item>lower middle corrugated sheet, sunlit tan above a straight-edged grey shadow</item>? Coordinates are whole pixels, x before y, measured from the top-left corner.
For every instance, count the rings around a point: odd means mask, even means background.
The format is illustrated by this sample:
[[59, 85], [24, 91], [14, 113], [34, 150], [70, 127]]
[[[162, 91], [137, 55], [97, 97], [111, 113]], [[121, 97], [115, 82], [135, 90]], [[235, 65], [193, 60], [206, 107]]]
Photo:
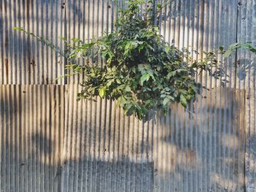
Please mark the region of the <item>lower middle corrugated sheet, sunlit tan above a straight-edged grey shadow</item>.
[[75, 101], [69, 86], [63, 191], [152, 191], [152, 125], [124, 118], [115, 103]]

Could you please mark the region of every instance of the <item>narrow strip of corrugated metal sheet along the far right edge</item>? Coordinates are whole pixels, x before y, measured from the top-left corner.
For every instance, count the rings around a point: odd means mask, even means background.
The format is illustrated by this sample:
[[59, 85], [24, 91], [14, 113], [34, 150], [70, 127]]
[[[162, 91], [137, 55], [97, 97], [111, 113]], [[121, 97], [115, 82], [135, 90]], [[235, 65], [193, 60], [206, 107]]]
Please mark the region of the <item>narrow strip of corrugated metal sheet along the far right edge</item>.
[[[241, 0], [238, 19], [238, 41], [256, 46], [256, 1]], [[238, 51], [238, 88], [246, 90], [246, 191], [256, 191], [256, 58]]]

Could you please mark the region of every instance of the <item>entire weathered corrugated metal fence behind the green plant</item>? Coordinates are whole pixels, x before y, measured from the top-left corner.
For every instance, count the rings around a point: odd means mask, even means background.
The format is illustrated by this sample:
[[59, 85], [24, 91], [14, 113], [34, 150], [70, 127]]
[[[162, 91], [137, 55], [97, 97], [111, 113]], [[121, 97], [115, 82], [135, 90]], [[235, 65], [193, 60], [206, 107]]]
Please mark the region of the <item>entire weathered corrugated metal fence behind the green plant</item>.
[[[64, 61], [12, 26], [61, 45], [113, 30], [108, 0], [0, 0], [0, 191], [256, 191], [255, 55], [226, 61], [230, 82], [147, 123], [116, 103], [75, 100], [80, 77], [55, 81]], [[175, 0], [159, 24], [197, 50], [256, 46], [256, 1]]]

